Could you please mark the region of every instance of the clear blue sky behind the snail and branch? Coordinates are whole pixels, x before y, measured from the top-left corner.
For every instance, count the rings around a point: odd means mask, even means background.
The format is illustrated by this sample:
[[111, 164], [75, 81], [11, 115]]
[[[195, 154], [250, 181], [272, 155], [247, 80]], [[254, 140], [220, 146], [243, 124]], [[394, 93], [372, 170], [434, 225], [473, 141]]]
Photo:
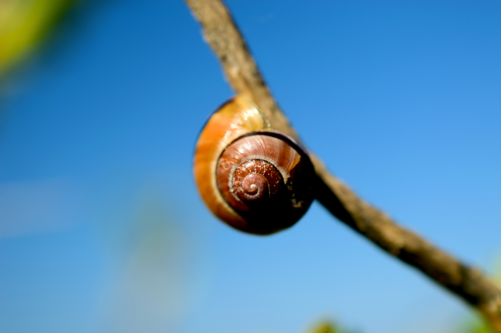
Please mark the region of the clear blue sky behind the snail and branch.
[[[501, 256], [501, 3], [228, 1], [305, 144], [403, 225]], [[0, 331], [454, 330], [469, 310], [318, 203], [217, 221], [196, 136], [232, 92], [180, 0], [87, 6], [3, 88]]]

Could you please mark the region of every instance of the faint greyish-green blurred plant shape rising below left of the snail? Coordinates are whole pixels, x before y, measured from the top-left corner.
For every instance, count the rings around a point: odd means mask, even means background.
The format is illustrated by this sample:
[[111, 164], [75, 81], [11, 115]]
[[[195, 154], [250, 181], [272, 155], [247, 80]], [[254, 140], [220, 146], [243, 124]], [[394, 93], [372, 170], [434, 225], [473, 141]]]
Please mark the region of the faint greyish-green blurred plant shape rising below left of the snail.
[[195, 245], [155, 183], [146, 184], [138, 199], [130, 225], [119, 220], [108, 226], [108, 236], [118, 241], [121, 264], [106, 301], [104, 331], [169, 332], [193, 301], [193, 280], [199, 273], [194, 268]]

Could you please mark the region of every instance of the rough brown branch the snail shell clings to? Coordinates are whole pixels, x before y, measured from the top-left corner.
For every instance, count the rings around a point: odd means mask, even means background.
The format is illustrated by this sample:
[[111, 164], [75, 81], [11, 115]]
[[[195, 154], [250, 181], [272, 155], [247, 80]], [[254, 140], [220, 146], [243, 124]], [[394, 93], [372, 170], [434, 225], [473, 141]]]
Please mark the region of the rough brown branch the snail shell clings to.
[[[205, 40], [218, 57], [230, 86], [253, 100], [275, 129], [298, 139], [224, 4], [220, 0], [185, 1], [202, 26]], [[474, 306], [494, 331], [501, 333], [501, 290], [494, 283], [360, 199], [318, 157], [312, 156], [312, 161], [318, 176], [316, 198], [333, 215]]]

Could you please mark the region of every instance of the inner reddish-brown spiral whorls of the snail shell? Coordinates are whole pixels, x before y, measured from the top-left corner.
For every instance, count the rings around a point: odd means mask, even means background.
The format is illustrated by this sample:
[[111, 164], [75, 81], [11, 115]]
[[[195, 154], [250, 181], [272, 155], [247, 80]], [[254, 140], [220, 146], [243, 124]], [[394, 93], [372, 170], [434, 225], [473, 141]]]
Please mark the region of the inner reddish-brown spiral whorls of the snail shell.
[[[310, 164], [299, 146], [284, 134], [248, 133], [221, 153], [217, 188], [233, 210], [254, 221], [250, 224], [282, 229], [295, 223], [310, 205]], [[293, 180], [297, 170], [302, 172]]]

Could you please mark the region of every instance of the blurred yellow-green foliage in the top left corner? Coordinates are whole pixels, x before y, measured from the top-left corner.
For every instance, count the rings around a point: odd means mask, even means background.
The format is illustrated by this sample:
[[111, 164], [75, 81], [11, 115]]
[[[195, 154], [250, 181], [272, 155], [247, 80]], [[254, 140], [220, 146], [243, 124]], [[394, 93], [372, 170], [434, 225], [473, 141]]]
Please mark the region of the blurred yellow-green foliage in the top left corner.
[[0, 79], [41, 45], [82, 0], [0, 0]]

